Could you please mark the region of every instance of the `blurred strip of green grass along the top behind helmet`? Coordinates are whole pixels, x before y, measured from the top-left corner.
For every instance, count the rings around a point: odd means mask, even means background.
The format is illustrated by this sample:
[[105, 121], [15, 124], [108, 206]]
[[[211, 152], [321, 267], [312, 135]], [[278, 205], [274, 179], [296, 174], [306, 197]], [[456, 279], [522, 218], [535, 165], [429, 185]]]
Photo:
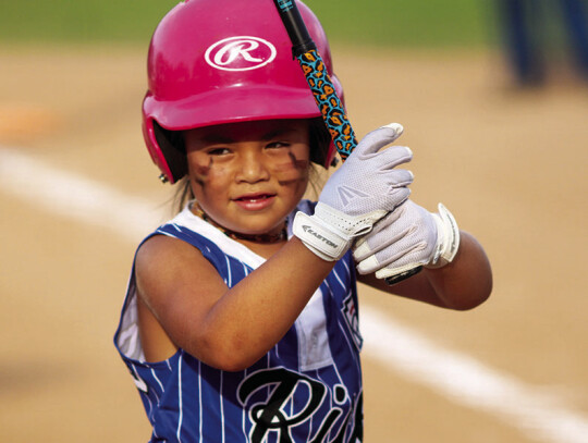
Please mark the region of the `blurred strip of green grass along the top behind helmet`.
[[[246, 0], [235, 0], [246, 1]], [[176, 0], [8, 0], [4, 42], [145, 42]], [[485, 0], [307, 0], [332, 41], [391, 47], [477, 46], [488, 39]]]

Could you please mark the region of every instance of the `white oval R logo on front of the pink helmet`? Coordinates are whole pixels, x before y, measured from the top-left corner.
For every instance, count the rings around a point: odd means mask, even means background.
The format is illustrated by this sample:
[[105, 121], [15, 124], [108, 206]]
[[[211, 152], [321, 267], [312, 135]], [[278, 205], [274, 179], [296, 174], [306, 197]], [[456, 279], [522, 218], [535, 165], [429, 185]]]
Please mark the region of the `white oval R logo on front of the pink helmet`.
[[275, 59], [275, 47], [259, 37], [229, 37], [211, 45], [205, 53], [206, 62], [222, 71], [250, 71]]

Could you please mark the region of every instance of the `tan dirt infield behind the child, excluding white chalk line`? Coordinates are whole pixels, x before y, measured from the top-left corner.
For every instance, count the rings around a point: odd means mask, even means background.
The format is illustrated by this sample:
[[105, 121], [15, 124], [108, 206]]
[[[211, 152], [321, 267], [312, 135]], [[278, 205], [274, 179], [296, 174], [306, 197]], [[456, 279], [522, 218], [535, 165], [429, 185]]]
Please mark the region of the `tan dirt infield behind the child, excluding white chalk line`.
[[[402, 143], [415, 152], [413, 198], [429, 209], [443, 201], [494, 269], [493, 295], [474, 311], [363, 288], [364, 305], [549, 398], [555, 418], [546, 427], [568, 426], [556, 419], [562, 410], [586, 422], [588, 87], [558, 79], [515, 90], [490, 53], [333, 49], [356, 132], [403, 123]], [[171, 189], [158, 183], [139, 131], [144, 57], [144, 48], [0, 47], [0, 152], [11, 147], [161, 205], [166, 219]], [[34, 189], [35, 171], [19, 172]], [[112, 346], [145, 232], [81, 223], [2, 183], [2, 441], [147, 441], [138, 394]], [[532, 407], [525, 422], [524, 414], [468, 405], [372, 354], [365, 384], [368, 443], [558, 441], [532, 422], [543, 417]], [[512, 389], [513, 404], [522, 392]]]

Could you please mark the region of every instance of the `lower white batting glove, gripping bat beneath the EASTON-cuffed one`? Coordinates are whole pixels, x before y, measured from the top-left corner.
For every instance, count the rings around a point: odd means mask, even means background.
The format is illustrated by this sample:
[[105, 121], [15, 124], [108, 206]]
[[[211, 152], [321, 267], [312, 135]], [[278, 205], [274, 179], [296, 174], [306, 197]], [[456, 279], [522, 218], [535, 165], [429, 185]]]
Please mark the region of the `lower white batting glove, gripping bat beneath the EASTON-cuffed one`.
[[354, 245], [357, 271], [376, 272], [378, 279], [394, 282], [420, 267], [450, 263], [460, 247], [460, 230], [443, 205], [439, 204], [438, 210], [430, 213], [407, 200], [388, 214]]

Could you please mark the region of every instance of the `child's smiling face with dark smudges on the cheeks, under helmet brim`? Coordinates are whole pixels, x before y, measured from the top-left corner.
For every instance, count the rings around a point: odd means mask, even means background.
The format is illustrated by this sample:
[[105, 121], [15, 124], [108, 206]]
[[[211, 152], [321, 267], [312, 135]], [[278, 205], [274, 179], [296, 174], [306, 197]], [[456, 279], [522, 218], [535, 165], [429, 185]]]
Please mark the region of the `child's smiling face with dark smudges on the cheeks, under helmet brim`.
[[308, 123], [268, 120], [185, 133], [191, 186], [219, 225], [242, 234], [281, 232], [308, 184]]

